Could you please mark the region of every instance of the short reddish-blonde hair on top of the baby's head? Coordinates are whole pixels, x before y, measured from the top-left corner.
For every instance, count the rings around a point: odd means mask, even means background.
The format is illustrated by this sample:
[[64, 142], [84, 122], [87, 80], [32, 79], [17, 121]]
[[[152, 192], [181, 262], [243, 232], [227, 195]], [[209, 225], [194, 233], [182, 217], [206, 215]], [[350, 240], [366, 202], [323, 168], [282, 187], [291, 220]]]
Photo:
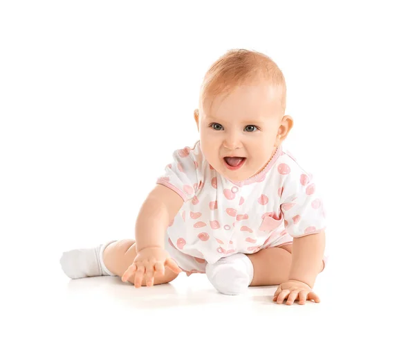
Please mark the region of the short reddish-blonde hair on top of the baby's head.
[[205, 74], [200, 91], [200, 106], [208, 96], [230, 93], [244, 82], [266, 80], [281, 89], [281, 106], [286, 109], [286, 82], [277, 64], [263, 53], [232, 49], [212, 64]]

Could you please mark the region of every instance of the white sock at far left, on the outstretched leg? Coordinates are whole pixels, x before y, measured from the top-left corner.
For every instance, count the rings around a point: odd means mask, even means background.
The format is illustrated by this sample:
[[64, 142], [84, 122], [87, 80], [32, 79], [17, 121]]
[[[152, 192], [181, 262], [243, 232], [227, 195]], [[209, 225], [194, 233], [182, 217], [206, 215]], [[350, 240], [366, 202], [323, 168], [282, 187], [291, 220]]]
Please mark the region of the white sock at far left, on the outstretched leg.
[[72, 279], [101, 275], [115, 276], [105, 267], [102, 260], [104, 249], [113, 242], [115, 241], [110, 241], [90, 249], [74, 249], [64, 252], [60, 259], [62, 270]]

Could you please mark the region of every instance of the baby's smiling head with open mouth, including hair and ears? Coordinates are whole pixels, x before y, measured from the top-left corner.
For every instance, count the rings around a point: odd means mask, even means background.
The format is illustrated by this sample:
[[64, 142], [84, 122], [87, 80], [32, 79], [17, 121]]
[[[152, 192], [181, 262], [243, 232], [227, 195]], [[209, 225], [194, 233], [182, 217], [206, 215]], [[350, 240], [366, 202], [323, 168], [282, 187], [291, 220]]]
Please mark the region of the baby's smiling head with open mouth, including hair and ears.
[[293, 127], [285, 109], [286, 83], [277, 64], [255, 51], [228, 51], [206, 73], [194, 111], [203, 155], [232, 181], [252, 177]]

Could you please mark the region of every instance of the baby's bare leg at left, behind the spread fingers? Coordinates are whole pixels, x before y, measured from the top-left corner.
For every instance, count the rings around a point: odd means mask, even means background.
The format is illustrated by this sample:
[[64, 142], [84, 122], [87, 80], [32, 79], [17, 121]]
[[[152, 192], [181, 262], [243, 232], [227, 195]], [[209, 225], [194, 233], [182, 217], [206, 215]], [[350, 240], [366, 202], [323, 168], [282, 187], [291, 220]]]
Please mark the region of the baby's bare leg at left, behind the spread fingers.
[[[136, 242], [133, 239], [124, 239], [109, 244], [103, 254], [104, 265], [114, 275], [122, 277], [136, 257]], [[176, 279], [178, 274], [165, 267], [165, 274], [154, 275], [154, 285], [169, 283]], [[135, 275], [131, 275], [128, 281], [134, 284]], [[142, 279], [142, 286], [146, 286], [146, 277]]]

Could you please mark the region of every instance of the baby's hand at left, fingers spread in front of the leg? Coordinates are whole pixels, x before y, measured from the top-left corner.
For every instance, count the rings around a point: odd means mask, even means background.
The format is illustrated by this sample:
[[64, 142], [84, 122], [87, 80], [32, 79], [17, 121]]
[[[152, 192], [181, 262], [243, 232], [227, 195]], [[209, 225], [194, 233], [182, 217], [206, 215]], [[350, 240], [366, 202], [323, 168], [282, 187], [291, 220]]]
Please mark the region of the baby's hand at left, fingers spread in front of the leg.
[[133, 263], [122, 275], [122, 281], [127, 281], [131, 275], [136, 273], [134, 286], [140, 288], [142, 278], [146, 275], [147, 286], [154, 284], [154, 272], [159, 275], [165, 274], [165, 266], [173, 272], [180, 273], [181, 269], [177, 263], [169, 256], [169, 253], [162, 247], [145, 247], [138, 252]]

